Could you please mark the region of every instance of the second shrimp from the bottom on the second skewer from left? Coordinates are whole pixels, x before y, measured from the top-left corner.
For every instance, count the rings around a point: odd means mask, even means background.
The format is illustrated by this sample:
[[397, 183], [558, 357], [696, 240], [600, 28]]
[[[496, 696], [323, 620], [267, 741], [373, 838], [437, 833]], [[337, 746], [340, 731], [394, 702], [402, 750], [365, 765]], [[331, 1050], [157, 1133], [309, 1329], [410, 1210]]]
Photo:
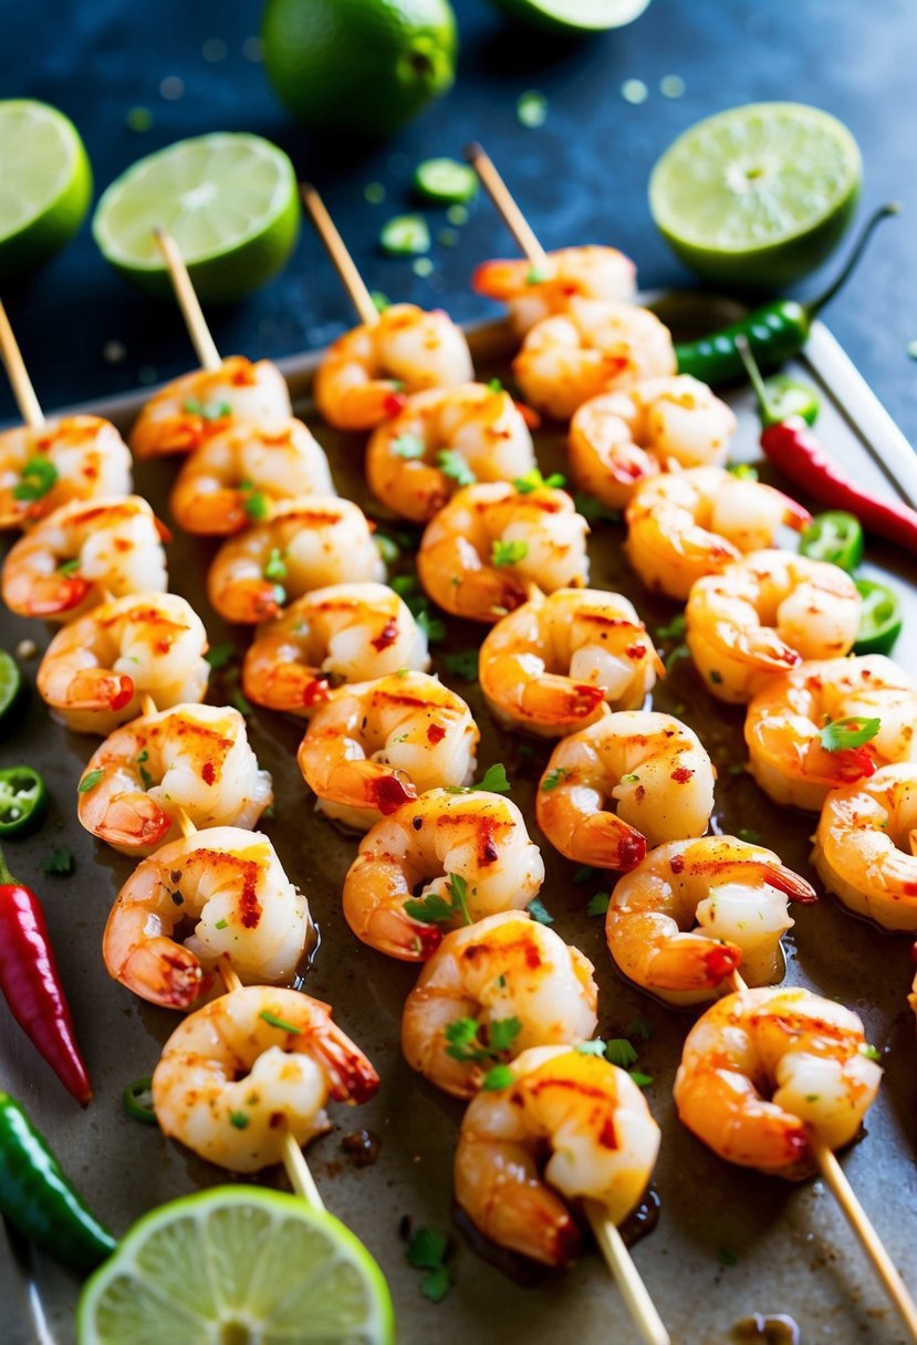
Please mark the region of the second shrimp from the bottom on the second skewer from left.
[[453, 1098], [473, 1098], [489, 1068], [530, 1046], [593, 1037], [593, 964], [524, 911], [448, 933], [405, 1001], [407, 1064]]

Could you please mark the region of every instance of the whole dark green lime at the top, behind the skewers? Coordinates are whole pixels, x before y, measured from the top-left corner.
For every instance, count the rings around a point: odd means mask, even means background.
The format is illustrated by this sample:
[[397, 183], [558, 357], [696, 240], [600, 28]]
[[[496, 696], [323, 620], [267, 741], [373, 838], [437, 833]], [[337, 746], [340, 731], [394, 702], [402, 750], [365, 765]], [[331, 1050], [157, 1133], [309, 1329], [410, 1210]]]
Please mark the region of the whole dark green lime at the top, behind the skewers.
[[387, 136], [453, 83], [448, 0], [268, 0], [265, 69], [308, 126]]

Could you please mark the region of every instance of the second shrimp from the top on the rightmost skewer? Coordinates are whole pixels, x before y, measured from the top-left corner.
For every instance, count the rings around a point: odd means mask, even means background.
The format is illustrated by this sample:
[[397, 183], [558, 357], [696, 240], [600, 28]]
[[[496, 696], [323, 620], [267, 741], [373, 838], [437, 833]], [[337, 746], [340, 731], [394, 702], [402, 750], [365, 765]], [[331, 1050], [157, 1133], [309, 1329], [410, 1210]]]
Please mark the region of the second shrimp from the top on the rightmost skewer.
[[573, 297], [565, 313], [535, 323], [512, 373], [536, 410], [569, 420], [590, 397], [674, 374], [675, 351], [648, 308]]

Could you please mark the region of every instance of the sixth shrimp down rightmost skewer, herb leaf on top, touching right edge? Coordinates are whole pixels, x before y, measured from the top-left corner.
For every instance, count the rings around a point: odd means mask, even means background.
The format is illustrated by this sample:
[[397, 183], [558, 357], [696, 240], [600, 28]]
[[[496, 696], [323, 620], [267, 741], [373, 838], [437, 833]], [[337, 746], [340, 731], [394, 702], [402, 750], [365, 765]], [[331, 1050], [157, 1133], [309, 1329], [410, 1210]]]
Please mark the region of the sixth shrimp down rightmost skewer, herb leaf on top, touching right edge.
[[[878, 720], [875, 734], [847, 746], [846, 729], [870, 718]], [[840, 728], [826, 738], [831, 724]], [[800, 663], [754, 697], [745, 744], [749, 769], [774, 803], [818, 811], [830, 790], [914, 760], [917, 685], [882, 654]]]

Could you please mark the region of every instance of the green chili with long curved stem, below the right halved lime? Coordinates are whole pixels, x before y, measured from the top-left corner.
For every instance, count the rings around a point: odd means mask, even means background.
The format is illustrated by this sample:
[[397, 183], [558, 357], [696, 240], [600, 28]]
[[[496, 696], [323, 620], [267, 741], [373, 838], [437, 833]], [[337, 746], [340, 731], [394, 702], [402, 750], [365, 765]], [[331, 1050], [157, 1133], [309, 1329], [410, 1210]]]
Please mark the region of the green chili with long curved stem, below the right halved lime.
[[675, 358], [679, 374], [692, 374], [714, 387], [738, 382], [745, 374], [745, 366], [735, 346], [737, 336], [745, 336], [760, 369], [776, 369], [791, 359], [805, 344], [819, 312], [834, 299], [859, 262], [873, 230], [882, 219], [897, 214], [898, 206], [889, 204], [879, 206], [870, 215], [847, 265], [818, 299], [808, 304], [800, 304], [795, 299], [777, 299], [711, 336], [678, 344]]

